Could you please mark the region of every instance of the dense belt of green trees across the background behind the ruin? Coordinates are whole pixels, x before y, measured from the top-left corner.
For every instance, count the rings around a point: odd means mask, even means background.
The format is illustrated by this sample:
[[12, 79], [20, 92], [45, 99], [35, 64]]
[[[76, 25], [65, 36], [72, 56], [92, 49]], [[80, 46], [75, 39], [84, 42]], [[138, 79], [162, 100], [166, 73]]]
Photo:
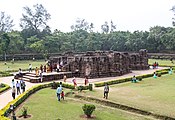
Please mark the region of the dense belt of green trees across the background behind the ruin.
[[[175, 12], [173, 8], [172, 11]], [[99, 33], [94, 32], [94, 27], [97, 26], [93, 23], [85, 19], [77, 19], [70, 27], [71, 32], [65, 33], [57, 29], [51, 32], [47, 24], [51, 15], [43, 5], [36, 4], [33, 8], [24, 7], [23, 12], [20, 19], [21, 31], [14, 31], [13, 20], [1, 12], [4, 17], [0, 19], [0, 23], [5, 22], [0, 24], [0, 54], [4, 56], [18, 53], [41, 53], [47, 57], [48, 53], [95, 50], [175, 51], [175, 28], [173, 27], [154, 26], [149, 31], [129, 32], [119, 31], [113, 21], [110, 23], [105, 21]], [[5, 29], [2, 29], [4, 27]]]

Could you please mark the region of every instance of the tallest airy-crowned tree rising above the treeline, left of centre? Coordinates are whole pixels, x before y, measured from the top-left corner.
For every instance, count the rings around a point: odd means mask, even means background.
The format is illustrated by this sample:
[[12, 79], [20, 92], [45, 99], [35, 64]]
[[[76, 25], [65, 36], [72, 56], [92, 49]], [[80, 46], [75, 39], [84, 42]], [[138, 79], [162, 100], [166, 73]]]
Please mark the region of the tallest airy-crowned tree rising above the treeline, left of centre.
[[29, 7], [24, 7], [20, 26], [22, 29], [32, 29], [35, 32], [45, 29], [50, 19], [50, 14], [42, 4], [33, 5], [34, 11]]

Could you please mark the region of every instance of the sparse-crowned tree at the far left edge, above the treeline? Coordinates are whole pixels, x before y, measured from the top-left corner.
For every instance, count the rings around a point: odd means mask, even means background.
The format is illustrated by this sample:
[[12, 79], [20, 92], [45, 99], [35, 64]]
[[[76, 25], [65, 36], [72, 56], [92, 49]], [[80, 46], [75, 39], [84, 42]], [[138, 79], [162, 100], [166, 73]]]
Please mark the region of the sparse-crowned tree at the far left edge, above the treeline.
[[10, 32], [14, 26], [13, 20], [9, 15], [6, 15], [5, 12], [1, 12], [0, 15], [0, 33]]

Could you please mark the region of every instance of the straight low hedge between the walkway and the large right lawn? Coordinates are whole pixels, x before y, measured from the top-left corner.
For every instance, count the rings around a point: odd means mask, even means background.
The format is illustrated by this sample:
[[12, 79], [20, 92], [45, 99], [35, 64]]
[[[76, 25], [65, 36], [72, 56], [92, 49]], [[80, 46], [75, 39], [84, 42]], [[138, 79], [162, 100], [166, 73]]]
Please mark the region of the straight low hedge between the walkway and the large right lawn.
[[[163, 70], [157, 70], [156, 73], [158, 74], [158, 76], [161, 76], [163, 74], [168, 74], [168, 71], [169, 71], [169, 69], [163, 69]], [[152, 76], [153, 76], [153, 73], [146, 74], [146, 75], [140, 75], [140, 76], [136, 76], [136, 79], [141, 81], [143, 78], [148, 78], [148, 77], [152, 77]], [[105, 84], [113, 85], [113, 84], [129, 82], [129, 81], [131, 81], [131, 79], [132, 79], [132, 77], [112, 80], [112, 81], [108, 81], [108, 82], [99, 82], [99, 83], [95, 83], [95, 87], [102, 87], [102, 86], [105, 86]]]

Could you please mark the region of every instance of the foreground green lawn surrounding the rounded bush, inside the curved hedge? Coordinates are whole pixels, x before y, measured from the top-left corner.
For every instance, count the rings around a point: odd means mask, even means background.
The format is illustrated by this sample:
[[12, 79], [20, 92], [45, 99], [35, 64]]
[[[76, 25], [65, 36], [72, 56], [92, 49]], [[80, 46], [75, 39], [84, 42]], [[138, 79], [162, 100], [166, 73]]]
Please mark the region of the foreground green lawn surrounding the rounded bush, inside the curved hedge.
[[[87, 120], [82, 118], [82, 106], [85, 101], [65, 98], [64, 101], [58, 102], [55, 90], [46, 88], [40, 90], [29, 97], [18, 109], [17, 116], [21, 115], [22, 107], [28, 108], [28, 113], [32, 117], [28, 120]], [[143, 116], [137, 116], [133, 113], [122, 110], [100, 106], [93, 103], [96, 110], [93, 116], [95, 120], [148, 120]]]

